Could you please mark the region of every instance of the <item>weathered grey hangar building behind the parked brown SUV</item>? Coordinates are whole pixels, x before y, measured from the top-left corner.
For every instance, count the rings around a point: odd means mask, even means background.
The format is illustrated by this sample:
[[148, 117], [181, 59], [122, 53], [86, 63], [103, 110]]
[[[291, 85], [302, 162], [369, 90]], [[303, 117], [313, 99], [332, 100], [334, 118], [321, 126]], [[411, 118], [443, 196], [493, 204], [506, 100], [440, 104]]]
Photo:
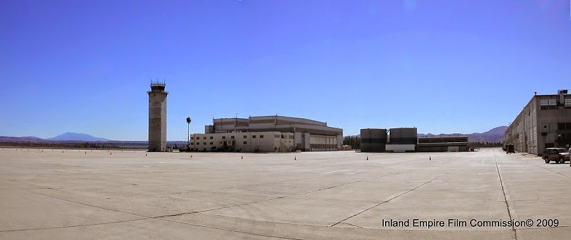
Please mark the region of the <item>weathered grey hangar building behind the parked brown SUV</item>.
[[571, 145], [571, 94], [531, 97], [504, 135], [504, 145], [513, 145], [521, 153], [542, 155], [545, 148], [569, 148]]

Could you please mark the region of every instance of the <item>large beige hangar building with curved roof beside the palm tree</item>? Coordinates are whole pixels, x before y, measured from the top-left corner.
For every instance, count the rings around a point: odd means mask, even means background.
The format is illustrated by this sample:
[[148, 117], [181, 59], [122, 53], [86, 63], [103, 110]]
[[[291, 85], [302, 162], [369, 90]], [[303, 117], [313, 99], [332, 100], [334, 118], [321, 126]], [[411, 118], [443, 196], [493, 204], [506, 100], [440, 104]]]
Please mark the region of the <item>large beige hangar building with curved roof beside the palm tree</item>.
[[297, 117], [261, 116], [214, 119], [203, 134], [189, 136], [192, 151], [337, 151], [343, 129]]

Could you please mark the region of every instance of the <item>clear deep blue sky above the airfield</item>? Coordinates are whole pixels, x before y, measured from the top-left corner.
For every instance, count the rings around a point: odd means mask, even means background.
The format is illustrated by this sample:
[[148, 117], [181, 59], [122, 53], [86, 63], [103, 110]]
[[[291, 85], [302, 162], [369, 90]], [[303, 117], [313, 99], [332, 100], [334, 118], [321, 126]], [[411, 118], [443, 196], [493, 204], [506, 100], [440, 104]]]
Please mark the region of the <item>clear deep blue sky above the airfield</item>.
[[484, 132], [571, 89], [570, 1], [0, 0], [0, 135], [146, 140], [155, 78], [169, 141], [235, 114]]

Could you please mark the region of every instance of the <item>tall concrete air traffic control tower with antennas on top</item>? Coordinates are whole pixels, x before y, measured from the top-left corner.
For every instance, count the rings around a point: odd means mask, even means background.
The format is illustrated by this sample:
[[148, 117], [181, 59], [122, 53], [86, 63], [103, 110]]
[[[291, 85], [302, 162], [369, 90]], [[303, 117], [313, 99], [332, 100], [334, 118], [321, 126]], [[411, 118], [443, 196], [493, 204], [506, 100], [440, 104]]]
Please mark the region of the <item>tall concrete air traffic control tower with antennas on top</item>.
[[149, 151], [166, 151], [166, 95], [164, 82], [151, 81], [149, 94]]

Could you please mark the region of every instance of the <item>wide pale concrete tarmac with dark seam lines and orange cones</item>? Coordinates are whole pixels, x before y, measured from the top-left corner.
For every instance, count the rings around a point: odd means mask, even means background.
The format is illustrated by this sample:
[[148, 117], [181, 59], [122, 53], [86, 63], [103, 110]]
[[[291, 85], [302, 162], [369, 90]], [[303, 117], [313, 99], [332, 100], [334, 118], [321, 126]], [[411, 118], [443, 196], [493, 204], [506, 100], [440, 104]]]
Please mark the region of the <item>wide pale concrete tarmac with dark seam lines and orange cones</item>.
[[570, 177], [497, 148], [2, 148], [0, 239], [568, 239]]

